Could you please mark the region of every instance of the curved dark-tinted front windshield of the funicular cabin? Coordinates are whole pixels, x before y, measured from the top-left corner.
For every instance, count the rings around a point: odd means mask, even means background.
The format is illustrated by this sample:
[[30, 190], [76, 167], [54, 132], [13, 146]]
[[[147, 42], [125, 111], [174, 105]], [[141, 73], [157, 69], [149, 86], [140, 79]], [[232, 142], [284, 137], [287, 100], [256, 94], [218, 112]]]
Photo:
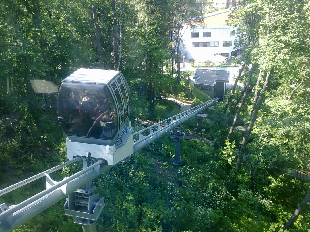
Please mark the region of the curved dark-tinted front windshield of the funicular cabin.
[[62, 83], [57, 110], [66, 135], [112, 140], [118, 132], [115, 105], [106, 85]]

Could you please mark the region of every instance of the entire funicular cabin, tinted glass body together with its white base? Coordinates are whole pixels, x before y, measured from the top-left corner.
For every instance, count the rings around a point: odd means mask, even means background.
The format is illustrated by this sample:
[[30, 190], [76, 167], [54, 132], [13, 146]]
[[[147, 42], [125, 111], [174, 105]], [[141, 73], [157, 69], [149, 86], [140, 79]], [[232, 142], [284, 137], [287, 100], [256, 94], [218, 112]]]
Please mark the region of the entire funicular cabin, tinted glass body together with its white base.
[[78, 69], [62, 81], [58, 120], [68, 158], [91, 153], [116, 164], [133, 152], [130, 90], [119, 71]]

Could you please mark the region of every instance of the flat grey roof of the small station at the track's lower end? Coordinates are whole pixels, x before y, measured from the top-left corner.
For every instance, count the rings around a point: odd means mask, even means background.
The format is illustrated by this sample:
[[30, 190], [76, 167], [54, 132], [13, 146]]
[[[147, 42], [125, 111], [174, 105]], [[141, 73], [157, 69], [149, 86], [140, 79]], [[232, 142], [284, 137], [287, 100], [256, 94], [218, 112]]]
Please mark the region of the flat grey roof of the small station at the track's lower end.
[[196, 81], [194, 84], [202, 84], [202, 85], [214, 85], [216, 80], [221, 80], [228, 82], [230, 73], [227, 75], [217, 75], [215, 74], [215, 70], [211, 69], [197, 69], [194, 73], [194, 77], [196, 77]]

